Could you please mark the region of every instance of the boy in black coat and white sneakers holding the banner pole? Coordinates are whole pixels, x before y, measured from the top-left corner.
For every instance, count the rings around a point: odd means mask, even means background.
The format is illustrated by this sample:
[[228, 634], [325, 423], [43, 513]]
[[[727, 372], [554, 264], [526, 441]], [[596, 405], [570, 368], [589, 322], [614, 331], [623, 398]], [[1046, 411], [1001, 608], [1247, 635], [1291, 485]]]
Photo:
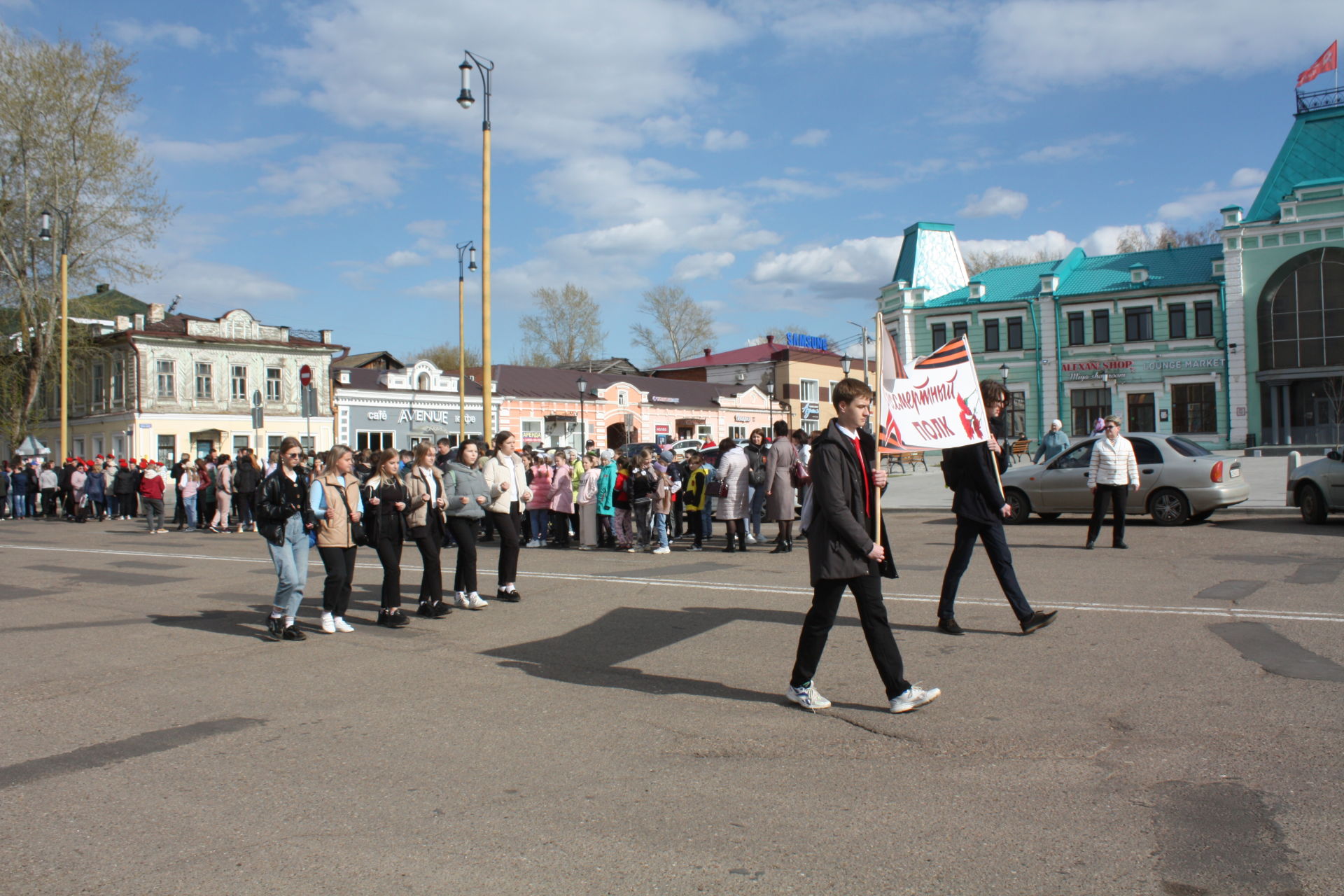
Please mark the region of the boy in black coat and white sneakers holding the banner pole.
[[812, 504], [808, 529], [808, 568], [812, 574], [812, 609], [802, 622], [793, 676], [785, 696], [804, 709], [825, 709], [831, 701], [817, 693], [816, 674], [827, 635], [835, 625], [844, 590], [859, 604], [859, 623], [868, 652], [887, 689], [891, 712], [910, 712], [934, 700], [938, 688], [911, 685], [905, 677], [900, 649], [891, 635], [887, 607], [882, 602], [882, 576], [896, 578], [887, 547], [874, 540], [874, 520], [882, 512], [887, 473], [874, 463], [876, 443], [863, 431], [872, 415], [872, 390], [845, 377], [831, 392], [836, 419], [812, 449]]

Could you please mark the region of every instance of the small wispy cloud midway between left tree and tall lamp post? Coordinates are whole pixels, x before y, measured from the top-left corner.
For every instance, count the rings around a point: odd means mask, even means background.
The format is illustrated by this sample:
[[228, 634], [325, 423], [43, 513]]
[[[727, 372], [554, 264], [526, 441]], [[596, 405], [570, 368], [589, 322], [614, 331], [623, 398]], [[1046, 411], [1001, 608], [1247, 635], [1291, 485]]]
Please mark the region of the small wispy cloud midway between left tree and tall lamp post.
[[271, 173], [258, 185], [292, 196], [265, 211], [321, 215], [343, 206], [390, 200], [402, 191], [396, 176], [405, 165], [402, 148], [395, 144], [341, 142], [304, 156], [288, 171], [270, 165]]

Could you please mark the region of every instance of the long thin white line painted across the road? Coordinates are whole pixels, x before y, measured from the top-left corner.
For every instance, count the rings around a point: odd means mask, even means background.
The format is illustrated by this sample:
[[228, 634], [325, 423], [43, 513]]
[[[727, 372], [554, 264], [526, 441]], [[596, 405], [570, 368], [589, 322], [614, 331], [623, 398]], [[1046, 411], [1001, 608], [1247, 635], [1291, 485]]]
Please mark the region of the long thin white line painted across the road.
[[[169, 557], [180, 560], [223, 560], [227, 563], [259, 563], [270, 566], [270, 557], [235, 557], [220, 556], [218, 553], [161, 553], [153, 551], [108, 551], [101, 548], [54, 548], [35, 544], [0, 544], [0, 548], [16, 551], [54, 551], [58, 553], [103, 553], [128, 557]], [[308, 566], [321, 568], [321, 562], [309, 557]], [[378, 563], [356, 563], [359, 570], [382, 570]], [[402, 566], [402, 570], [418, 572], [422, 567]], [[521, 571], [538, 579], [556, 579], [560, 582], [602, 582], [621, 586], [655, 586], [661, 588], [698, 588], [700, 591], [747, 591], [751, 594], [788, 594], [797, 596], [812, 596], [812, 588], [797, 588], [789, 586], [757, 586], [743, 582], [699, 582], [694, 579], [649, 579], [630, 578], [621, 575], [593, 575], [582, 572], [532, 572]], [[883, 600], [903, 600], [910, 603], [937, 603], [937, 594], [888, 594]], [[977, 607], [1001, 607], [1003, 598], [964, 598], [958, 596], [961, 604]], [[1243, 610], [1241, 607], [1176, 607], [1176, 606], [1144, 606], [1140, 603], [1051, 603], [1052, 610], [1083, 610], [1094, 613], [1138, 613], [1148, 615], [1180, 615], [1180, 617], [1218, 617], [1222, 619], [1284, 619], [1294, 622], [1344, 622], [1344, 615], [1331, 613], [1317, 613], [1314, 610]]]

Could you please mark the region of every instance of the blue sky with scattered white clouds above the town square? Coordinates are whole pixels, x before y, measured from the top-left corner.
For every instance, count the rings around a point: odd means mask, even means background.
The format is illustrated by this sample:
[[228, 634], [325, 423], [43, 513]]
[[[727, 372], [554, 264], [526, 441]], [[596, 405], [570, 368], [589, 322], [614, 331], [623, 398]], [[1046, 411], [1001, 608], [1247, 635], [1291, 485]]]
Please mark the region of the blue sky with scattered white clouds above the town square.
[[[844, 337], [915, 220], [1098, 254], [1250, 204], [1344, 3], [0, 0], [0, 20], [137, 55], [126, 126], [181, 211], [160, 277], [118, 287], [406, 360], [457, 337], [481, 128], [457, 66], [492, 58], [495, 359], [535, 289], [574, 282], [640, 363], [659, 283], [708, 306], [719, 349]], [[469, 275], [469, 344], [478, 302]]]

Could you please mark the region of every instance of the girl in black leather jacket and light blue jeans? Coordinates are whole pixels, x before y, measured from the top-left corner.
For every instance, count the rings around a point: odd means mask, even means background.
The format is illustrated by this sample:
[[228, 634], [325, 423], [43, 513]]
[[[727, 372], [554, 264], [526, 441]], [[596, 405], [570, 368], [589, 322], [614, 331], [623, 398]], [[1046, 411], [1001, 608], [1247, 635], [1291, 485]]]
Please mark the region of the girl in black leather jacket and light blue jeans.
[[[257, 531], [276, 564], [276, 596], [266, 617], [271, 641], [308, 639], [297, 617], [308, 584], [308, 533], [316, 517], [309, 508], [308, 476], [300, 466], [302, 457], [298, 439], [281, 439], [277, 466], [262, 480], [257, 496]], [[199, 470], [196, 476], [199, 482]]]

